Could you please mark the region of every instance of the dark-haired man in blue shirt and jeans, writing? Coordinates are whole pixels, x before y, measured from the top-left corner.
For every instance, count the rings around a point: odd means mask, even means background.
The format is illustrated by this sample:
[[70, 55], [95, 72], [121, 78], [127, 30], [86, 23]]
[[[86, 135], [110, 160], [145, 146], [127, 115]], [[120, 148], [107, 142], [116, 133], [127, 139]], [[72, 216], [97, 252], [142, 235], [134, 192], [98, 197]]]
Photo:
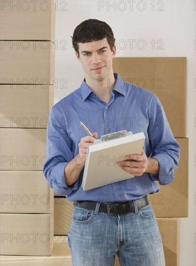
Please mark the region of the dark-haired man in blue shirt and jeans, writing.
[[[124, 266], [163, 266], [163, 245], [148, 194], [159, 191], [155, 180], [161, 185], [174, 180], [179, 145], [156, 95], [113, 73], [115, 39], [105, 22], [83, 21], [72, 42], [85, 79], [51, 110], [44, 174], [57, 194], [75, 201], [68, 236], [73, 265], [111, 266], [117, 254]], [[126, 123], [118, 123], [120, 118]], [[146, 122], [142, 127], [138, 118]], [[101, 135], [124, 129], [146, 136], [142, 154], [130, 154], [117, 166], [135, 177], [83, 191], [87, 148]]]

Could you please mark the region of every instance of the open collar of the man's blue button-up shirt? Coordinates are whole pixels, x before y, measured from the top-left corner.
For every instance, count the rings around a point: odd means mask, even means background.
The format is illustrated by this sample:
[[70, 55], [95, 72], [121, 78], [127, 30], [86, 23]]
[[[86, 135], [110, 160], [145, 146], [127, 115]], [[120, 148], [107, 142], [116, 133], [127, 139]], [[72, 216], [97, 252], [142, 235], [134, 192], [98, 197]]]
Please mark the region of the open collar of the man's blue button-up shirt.
[[[115, 90], [115, 91], [121, 93], [123, 96], [125, 96], [125, 82], [120, 77], [120, 75], [117, 73], [114, 73], [114, 77], [116, 78], [116, 83], [114, 85], [113, 90]], [[81, 83], [80, 90], [81, 90], [83, 101], [85, 101], [91, 93], [94, 93], [93, 90], [90, 89], [89, 86], [86, 84], [85, 78]]]

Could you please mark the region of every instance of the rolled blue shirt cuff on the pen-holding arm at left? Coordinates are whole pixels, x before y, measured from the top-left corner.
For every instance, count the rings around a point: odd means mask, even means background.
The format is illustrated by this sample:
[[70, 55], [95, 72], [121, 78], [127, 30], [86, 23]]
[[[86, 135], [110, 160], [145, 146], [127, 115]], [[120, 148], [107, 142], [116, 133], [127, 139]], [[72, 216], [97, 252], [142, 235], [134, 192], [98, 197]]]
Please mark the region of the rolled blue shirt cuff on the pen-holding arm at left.
[[70, 187], [67, 186], [64, 175], [64, 169], [66, 165], [67, 163], [58, 163], [52, 169], [52, 187], [55, 193], [59, 195], [68, 195], [78, 189], [79, 178], [73, 185]]

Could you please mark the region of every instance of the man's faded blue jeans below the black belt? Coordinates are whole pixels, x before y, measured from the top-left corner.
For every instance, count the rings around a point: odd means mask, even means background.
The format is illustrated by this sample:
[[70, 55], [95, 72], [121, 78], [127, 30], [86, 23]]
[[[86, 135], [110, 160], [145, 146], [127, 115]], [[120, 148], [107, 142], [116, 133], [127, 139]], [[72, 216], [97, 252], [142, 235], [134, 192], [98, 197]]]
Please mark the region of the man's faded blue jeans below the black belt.
[[108, 215], [74, 206], [68, 235], [73, 266], [165, 266], [161, 234], [151, 205]]

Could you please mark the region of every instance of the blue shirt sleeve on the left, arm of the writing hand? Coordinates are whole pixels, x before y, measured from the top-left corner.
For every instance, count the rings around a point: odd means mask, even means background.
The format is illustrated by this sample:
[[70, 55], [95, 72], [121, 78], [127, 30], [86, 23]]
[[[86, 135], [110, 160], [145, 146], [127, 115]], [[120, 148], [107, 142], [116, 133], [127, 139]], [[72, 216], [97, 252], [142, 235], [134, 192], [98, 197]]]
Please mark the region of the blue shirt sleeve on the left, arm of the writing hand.
[[56, 194], [68, 195], [78, 189], [78, 179], [72, 186], [67, 186], [64, 169], [74, 158], [73, 142], [67, 134], [66, 118], [55, 114], [51, 109], [46, 137], [46, 161], [43, 173], [50, 187]]

